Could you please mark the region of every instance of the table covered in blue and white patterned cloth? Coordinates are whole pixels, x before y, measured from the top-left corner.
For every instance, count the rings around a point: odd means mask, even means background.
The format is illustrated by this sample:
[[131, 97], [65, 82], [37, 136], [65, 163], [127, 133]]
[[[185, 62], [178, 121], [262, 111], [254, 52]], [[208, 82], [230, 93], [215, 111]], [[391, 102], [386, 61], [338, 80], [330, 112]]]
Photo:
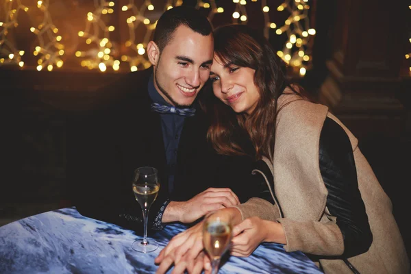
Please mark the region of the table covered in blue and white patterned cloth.
[[[160, 247], [151, 253], [131, 248], [134, 231], [64, 208], [0, 227], [0, 273], [154, 273], [153, 260], [184, 225], [153, 234]], [[171, 272], [171, 271], [170, 271]], [[302, 252], [264, 243], [248, 258], [230, 256], [225, 273], [321, 273]]]

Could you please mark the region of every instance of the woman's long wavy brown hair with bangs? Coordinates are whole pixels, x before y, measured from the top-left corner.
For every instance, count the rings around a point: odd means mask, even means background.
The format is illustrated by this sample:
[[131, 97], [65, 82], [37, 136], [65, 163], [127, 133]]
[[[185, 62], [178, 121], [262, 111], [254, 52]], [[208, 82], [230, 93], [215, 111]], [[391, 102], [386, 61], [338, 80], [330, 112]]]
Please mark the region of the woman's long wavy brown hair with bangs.
[[[256, 109], [249, 116], [236, 114], [232, 108], [204, 90], [200, 103], [211, 119], [208, 140], [218, 153], [251, 155], [261, 159], [273, 153], [277, 99], [287, 86], [286, 64], [277, 57], [264, 36], [247, 25], [225, 25], [214, 31], [214, 54], [223, 64], [248, 67], [256, 71], [254, 84], [260, 92]], [[211, 84], [208, 83], [207, 88]], [[211, 94], [211, 95], [210, 95]], [[252, 150], [244, 138], [251, 140]]]

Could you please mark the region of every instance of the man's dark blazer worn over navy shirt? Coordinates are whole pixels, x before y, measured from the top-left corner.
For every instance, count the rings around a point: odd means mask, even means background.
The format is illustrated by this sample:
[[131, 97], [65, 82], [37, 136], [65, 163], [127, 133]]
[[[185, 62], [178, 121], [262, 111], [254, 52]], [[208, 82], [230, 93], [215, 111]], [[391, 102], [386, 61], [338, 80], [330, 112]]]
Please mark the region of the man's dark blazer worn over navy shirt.
[[149, 227], [166, 199], [187, 201], [211, 186], [232, 188], [242, 202], [252, 197], [247, 187], [253, 179], [251, 159], [217, 155], [206, 140], [208, 121], [200, 108], [184, 122], [174, 191], [169, 192], [160, 114], [151, 112], [147, 91], [151, 73], [128, 73], [99, 90], [99, 108], [71, 121], [67, 171], [77, 210], [140, 230], [141, 209], [132, 192], [138, 166], [153, 166], [159, 173], [160, 191], [150, 209]]

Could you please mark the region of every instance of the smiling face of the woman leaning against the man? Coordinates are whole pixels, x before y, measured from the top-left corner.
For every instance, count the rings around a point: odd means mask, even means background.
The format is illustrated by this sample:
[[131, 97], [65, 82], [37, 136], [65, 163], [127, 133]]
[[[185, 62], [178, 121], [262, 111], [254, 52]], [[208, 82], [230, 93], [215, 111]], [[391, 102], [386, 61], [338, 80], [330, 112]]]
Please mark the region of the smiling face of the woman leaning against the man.
[[234, 64], [223, 65], [214, 55], [210, 71], [214, 95], [235, 112], [251, 114], [260, 99], [260, 93], [254, 84], [255, 72]]

